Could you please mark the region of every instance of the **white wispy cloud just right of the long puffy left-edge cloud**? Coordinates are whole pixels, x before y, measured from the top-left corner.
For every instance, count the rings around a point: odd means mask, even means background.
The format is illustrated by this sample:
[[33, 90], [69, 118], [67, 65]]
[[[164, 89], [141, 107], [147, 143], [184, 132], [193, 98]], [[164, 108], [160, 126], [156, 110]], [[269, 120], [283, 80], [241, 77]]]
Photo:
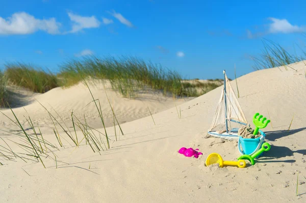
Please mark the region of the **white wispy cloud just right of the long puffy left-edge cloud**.
[[96, 28], [100, 26], [100, 22], [94, 17], [84, 17], [68, 12], [70, 20], [73, 22], [70, 33], [77, 33], [84, 28]]

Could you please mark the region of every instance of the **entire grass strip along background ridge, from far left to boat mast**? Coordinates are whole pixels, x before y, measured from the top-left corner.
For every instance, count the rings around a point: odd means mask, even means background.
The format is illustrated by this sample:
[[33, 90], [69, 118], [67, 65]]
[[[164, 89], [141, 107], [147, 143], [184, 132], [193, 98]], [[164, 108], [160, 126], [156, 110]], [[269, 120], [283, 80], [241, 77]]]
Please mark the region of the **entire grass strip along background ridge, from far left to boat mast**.
[[[60, 72], [55, 75], [50, 71], [25, 63], [7, 63], [4, 75], [9, 84], [27, 88], [33, 92], [45, 93], [58, 86], [71, 86], [91, 79], [107, 79], [112, 88], [122, 96], [135, 98], [139, 90], [151, 88], [173, 97], [197, 97], [217, 88], [214, 83], [196, 85], [183, 81], [176, 71], [161, 65], [145, 62], [137, 57], [89, 56], [72, 59], [61, 64]], [[190, 83], [190, 84], [189, 84]]]

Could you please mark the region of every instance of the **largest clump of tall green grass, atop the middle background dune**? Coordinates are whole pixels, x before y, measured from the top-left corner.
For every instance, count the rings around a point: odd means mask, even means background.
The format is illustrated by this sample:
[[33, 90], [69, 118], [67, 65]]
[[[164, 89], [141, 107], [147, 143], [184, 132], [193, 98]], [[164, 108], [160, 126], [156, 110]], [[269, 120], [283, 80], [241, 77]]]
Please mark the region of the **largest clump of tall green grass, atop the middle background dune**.
[[70, 86], [82, 81], [82, 75], [97, 79], [108, 79], [112, 88], [125, 97], [136, 97], [138, 90], [152, 88], [173, 96], [197, 96], [186, 89], [182, 77], [176, 71], [160, 65], [147, 63], [137, 57], [84, 57], [70, 60], [60, 66], [62, 85]]

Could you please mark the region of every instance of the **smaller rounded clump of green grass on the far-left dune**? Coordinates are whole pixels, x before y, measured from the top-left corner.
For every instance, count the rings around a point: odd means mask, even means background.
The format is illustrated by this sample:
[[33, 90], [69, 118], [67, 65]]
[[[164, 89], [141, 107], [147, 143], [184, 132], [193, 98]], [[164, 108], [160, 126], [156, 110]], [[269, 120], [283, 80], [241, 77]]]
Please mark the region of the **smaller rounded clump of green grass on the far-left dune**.
[[45, 93], [59, 86], [56, 75], [31, 64], [7, 63], [5, 68], [5, 75], [10, 83], [33, 92]]

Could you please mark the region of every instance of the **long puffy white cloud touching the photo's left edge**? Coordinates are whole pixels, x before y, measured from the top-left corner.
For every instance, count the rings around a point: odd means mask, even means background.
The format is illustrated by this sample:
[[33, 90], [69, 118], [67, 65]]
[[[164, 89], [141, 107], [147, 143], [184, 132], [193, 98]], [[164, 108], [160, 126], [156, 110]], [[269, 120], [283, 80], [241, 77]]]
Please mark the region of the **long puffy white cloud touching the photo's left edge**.
[[37, 31], [44, 31], [48, 34], [59, 34], [61, 23], [55, 18], [36, 19], [34, 16], [19, 12], [5, 19], [0, 17], [0, 35], [27, 35]]

